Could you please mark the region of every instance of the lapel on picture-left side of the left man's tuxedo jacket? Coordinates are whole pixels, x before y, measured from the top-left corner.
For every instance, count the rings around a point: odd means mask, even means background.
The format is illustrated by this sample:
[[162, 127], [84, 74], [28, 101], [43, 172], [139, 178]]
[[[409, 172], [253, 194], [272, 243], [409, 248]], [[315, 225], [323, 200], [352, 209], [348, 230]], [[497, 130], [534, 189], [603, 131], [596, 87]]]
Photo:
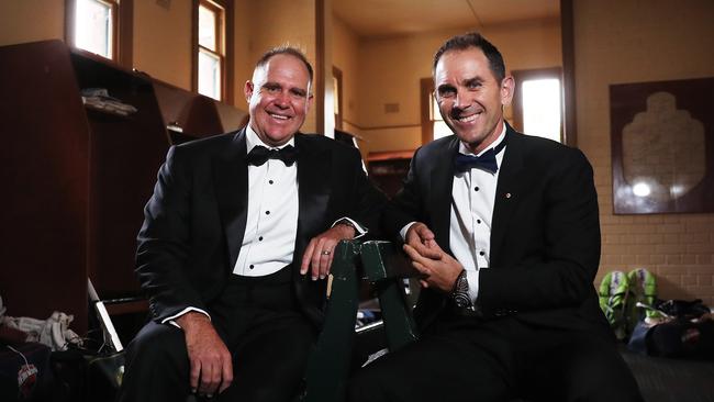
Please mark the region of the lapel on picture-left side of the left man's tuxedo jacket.
[[215, 194], [230, 254], [230, 269], [238, 259], [248, 206], [248, 166], [245, 160], [245, 129], [213, 161]]

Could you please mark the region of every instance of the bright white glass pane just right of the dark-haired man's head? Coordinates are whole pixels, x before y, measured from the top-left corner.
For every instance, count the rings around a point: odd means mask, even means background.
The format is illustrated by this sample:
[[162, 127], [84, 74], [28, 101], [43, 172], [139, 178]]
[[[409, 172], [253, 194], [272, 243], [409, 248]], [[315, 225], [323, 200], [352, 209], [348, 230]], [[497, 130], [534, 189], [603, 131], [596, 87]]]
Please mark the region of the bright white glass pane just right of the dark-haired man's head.
[[523, 81], [523, 131], [560, 142], [560, 80]]

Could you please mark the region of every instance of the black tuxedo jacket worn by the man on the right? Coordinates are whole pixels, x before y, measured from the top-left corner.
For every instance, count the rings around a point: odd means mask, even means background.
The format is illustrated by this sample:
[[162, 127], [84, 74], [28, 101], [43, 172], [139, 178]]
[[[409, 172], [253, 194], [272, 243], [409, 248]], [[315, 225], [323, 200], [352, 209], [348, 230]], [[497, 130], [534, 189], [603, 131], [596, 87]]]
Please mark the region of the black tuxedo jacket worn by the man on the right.
[[[511, 126], [505, 141], [490, 267], [480, 271], [478, 305], [486, 316], [609, 331], [593, 287], [600, 223], [592, 167], [580, 150]], [[389, 233], [412, 221], [424, 222], [450, 253], [453, 160], [458, 148], [459, 141], [451, 135], [417, 149], [404, 188], [386, 214]], [[431, 288], [422, 290], [415, 311], [422, 327], [438, 315], [447, 298]]]

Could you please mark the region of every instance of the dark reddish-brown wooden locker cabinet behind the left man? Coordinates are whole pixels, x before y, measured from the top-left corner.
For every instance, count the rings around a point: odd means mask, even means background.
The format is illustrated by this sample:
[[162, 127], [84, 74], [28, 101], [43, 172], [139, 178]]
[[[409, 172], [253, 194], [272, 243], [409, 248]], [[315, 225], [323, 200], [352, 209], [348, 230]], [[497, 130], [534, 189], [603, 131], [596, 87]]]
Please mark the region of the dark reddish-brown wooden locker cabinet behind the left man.
[[[140, 293], [135, 239], [171, 143], [169, 104], [189, 114], [191, 102], [220, 111], [194, 111], [182, 139], [236, 129], [245, 115], [178, 88], [170, 98], [166, 86], [60, 41], [0, 47], [0, 295], [8, 315], [63, 311], [83, 334], [88, 277], [102, 299]], [[137, 111], [88, 109], [86, 88], [104, 88]]]

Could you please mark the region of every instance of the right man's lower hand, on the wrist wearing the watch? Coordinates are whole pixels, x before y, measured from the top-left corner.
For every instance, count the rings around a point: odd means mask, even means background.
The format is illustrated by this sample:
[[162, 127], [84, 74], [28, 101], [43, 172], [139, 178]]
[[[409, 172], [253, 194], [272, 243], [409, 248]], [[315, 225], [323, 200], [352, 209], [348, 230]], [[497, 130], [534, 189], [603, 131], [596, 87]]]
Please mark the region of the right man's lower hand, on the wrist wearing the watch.
[[429, 247], [419, 243], [415, 246], [404, 244], [403, 248], [412, 259], [412, 266], [424, 276], [420, 279], [422, 287], [450, 292], [464, 266], [448, 253], [444, 253], [436, 242], [432, 242]]

